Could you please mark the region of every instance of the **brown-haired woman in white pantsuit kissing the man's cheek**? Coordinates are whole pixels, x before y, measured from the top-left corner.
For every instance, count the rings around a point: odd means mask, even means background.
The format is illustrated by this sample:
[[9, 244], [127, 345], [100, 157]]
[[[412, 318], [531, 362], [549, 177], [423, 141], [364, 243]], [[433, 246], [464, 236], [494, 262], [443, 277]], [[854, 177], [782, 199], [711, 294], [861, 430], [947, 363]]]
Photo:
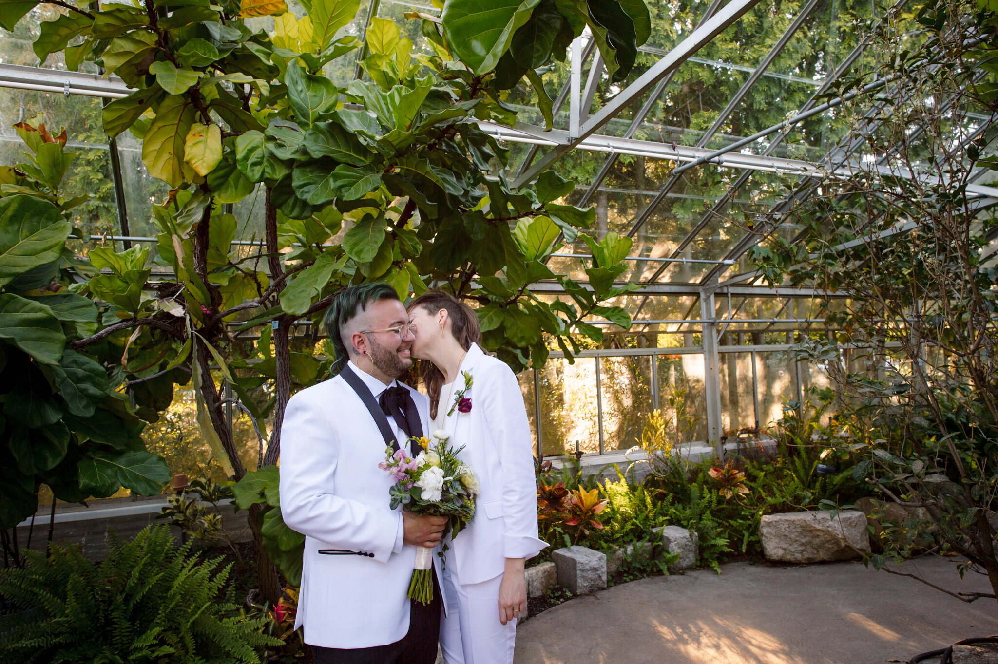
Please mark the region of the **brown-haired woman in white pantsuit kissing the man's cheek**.
[[[450, 541], [440, 625], [446, 664], [512, 664], [516, 620], [527, 608], [524, 561], [537, 537], [530, 425], [520, 385], [478, 346], [478, 318], [448, 293], [409, 306], [412, 357], [429, 393], [430, 429], [443, 429], [480, 485], [475, 517]], [[470, 381], [470, 386], [468, 385]]]

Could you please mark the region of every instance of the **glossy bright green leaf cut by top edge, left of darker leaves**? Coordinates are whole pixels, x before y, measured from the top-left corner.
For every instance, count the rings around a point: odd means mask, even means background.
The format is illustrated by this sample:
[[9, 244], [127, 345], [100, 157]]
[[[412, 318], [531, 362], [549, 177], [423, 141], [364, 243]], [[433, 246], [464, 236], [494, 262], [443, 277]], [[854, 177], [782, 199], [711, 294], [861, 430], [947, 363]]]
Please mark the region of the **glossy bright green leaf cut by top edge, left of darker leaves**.
[[513, 33], [541, 0], [448, 0], [440, 18], [451, 51], [471, 70], [491, 72]]

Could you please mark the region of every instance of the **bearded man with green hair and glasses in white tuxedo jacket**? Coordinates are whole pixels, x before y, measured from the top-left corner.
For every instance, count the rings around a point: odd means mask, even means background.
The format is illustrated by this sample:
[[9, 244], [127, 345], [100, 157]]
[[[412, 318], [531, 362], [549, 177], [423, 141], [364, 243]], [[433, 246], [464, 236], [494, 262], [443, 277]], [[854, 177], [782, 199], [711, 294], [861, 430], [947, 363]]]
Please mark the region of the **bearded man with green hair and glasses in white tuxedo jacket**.
[[[408, 598], [416, 546], [435, 547], [444, 516], [389, 506], [385, 447], [416, 456], [429, 402], [396, 378], [412, 366], [409, 316], [395, 289], [362, 283], [325, 315], [334, 376], [287, 403], [280, 509], [305, 535], [295, 628], [317, 664], [433, 664], [442, 611]], [[434, 556], [436, 557], [436, 556]]]

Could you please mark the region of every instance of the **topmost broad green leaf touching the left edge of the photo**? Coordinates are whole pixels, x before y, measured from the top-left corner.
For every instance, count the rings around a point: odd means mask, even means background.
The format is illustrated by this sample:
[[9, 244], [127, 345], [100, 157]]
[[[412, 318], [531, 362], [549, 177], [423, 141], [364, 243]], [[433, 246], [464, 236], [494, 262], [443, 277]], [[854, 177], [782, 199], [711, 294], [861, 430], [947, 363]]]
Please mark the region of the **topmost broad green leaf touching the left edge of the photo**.
[[59, 258], [71, 229], [47, 200], [23, 194], [0, 198], [0, 286]]

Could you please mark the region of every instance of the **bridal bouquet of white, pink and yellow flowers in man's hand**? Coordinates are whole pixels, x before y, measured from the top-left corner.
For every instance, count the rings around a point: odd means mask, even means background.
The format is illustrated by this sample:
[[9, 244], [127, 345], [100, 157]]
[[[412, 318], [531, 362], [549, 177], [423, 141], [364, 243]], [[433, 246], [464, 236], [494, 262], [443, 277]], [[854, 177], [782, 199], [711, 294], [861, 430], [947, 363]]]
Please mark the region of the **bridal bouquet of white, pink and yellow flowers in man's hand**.
[[[448, 445], [450, 434], [437, 429], [434, 441], [418, 438], [423, 449], [415, 459], [402, 449], [392, 452], [387, 448], [387, 458], [378, 468], [391, 474], [395, 484], [389, 491], [391, 508], [406, 505], [417, 514], [448, 516], [443, 535], [457, 535], [475, 515], [475, 495], [478, 481], [457, 455], [464, 447], [452, 450]], [[447, 545], [444, 544], [444, 550]], [[416, 562], [409, 583], [409, 597], [422, 604], [433, 599], [432, 548], [416, 547]]]

